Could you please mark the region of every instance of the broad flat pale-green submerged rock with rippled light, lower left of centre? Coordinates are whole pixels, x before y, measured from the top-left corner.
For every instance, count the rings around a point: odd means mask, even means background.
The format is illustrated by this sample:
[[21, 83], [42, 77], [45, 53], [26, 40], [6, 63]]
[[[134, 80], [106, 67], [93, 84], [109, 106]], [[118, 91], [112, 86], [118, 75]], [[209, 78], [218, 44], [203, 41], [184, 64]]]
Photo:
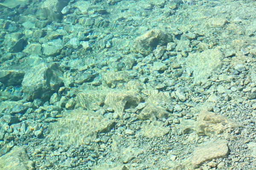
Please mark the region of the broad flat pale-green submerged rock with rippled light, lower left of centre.
[[58, 122], [50, 124], [49, 137], [59, 136], [66, 145], [80, 146], [93, 142], [98, 133], [110, 131], [113, 125], [113, 120], [106, 119], [93, 111], [65, 111]]

